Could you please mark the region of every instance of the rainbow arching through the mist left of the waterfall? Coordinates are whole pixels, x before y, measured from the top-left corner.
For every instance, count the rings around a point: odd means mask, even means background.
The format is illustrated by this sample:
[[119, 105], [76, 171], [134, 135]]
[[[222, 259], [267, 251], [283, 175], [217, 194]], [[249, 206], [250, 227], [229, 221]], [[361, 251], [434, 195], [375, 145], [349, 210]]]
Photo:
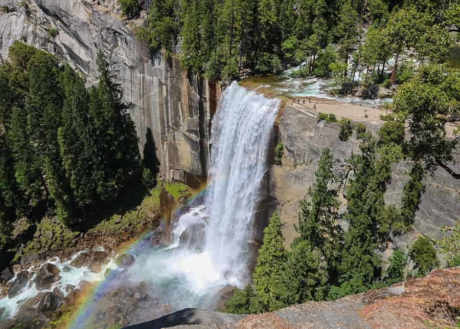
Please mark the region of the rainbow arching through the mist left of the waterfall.
[[[193, 195], [188, 199], [186, 205], [191, 205], [194, 200], [204, 196], [208, 186], [209, 185], [203, 185], [201, 188], [194, 190]], [[184, 205], [177, 205], [175, 209], [171, 211], [171, 213], [163, 215], [163, 220], [167, 219], [165, 217], [171, 216], [171, 214], [177, 215], [183, 206]], [[144, 250], [151, 247], [149, 241], [150, 233], [150, 230], [141, 233], [140, 236], [121, 246], [120, 249], [118, 249], [117, 254], [121, 255], [124, 253], [129, 253], [136, 255], [142, 253]], [[118, 271], [110, 271], [103, 280], [96, 282], [96, 284], [91, 286], [91, 288], [83, 290], [82, 295], [79, 297], [77, 302], [78, 308], [72, 313], [71, 318], [66, 321], [62, 328], [84, 329], [91, 327], [91, 320], [93, 320], [95, 315], [92, 305], [96, 304], [108, 292], [117, 287], [117, 284], [119, 283], [117, 278]]]

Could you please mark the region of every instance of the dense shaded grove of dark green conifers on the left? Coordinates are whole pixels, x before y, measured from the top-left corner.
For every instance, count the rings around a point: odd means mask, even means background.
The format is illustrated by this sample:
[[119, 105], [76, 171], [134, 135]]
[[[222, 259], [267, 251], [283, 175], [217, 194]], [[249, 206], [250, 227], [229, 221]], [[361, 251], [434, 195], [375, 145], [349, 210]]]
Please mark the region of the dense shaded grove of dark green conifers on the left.
[[68, 65], [24, 43], [9, 58], [0, 66], [0, 230], [45, 212], [79, 223], [139, 182], [134, 124], [102, 54], [89, 91]]

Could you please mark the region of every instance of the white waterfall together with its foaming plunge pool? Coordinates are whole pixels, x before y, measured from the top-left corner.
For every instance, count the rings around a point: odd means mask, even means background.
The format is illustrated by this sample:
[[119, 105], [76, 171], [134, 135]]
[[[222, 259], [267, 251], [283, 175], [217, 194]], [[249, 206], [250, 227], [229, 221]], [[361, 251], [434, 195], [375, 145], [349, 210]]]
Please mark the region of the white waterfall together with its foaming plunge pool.
[[175, 308], [212, 308], [226, 286], [243, 288], [254, 256], [255, 213], [267, 171], [270, 134], [280, 101], [232, 83], [213, 119], [209, 187], [204, 204], [183, 214], [164, 254], [140, 261], [155, 291]]

